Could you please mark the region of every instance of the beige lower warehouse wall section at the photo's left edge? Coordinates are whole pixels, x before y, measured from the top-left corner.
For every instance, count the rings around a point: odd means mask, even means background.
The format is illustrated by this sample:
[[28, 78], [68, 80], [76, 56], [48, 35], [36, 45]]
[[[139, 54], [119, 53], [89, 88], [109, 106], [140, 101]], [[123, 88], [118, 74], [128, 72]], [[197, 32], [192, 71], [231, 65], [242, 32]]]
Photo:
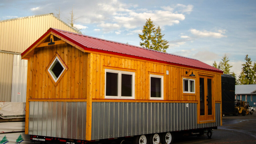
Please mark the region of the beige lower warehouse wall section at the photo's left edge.
[[0, 101], [11, 101], [13, 54], [0, 52]]

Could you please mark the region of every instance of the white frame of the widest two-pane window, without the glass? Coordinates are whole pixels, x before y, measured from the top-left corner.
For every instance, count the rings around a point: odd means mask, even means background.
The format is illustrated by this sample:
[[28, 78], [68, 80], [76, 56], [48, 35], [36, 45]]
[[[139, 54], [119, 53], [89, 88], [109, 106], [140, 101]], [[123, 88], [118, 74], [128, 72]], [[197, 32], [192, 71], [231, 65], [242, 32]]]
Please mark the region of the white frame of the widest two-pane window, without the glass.
[[[118, 74], [118, 96], [106, 96], [106, 73], [117, 73]], [[132, 75], [132, 96], [121, 96], [121, 74]], [[135, 73], [130, 71], [112, 70], [105, 69], [105, 99], [135, 99]]]

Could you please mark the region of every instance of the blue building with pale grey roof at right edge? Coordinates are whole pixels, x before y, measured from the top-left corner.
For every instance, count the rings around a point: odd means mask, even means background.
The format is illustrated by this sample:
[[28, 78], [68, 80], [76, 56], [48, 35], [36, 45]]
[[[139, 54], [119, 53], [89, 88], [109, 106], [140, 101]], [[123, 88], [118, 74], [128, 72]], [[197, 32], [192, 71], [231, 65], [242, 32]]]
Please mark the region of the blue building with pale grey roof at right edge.
[[236, 85], [235, 99], [249, 102], [249, 105], [256, 107], [256, 84]]

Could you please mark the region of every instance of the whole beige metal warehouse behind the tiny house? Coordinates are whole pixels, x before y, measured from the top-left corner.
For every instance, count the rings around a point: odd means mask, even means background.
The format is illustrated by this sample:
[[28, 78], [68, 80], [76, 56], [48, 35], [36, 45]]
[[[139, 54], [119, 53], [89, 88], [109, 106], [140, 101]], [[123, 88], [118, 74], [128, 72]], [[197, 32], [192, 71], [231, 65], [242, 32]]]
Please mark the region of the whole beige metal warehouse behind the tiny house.
[[26, 102], [27, 60], [20, 54], [51, 27], [78, 33], [52, 13], [0, 21], [0, 101]]

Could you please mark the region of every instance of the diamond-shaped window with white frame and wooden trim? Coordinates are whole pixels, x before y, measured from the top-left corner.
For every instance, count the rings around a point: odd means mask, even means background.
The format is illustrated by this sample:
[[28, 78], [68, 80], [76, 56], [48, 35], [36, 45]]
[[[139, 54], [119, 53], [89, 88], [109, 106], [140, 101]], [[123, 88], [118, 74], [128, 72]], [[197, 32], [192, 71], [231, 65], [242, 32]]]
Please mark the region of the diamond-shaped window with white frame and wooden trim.
[[54, 82], [55, 86], [59, 83], [61, 77], [65, 74], [68, 67], [64, 63], [64, 61], [60, 58], [60, 56], [56, 53], [54, 58], [51, 60], [51, 63], [47, 67], [47, 74], [50, 76], [52, 82]]

